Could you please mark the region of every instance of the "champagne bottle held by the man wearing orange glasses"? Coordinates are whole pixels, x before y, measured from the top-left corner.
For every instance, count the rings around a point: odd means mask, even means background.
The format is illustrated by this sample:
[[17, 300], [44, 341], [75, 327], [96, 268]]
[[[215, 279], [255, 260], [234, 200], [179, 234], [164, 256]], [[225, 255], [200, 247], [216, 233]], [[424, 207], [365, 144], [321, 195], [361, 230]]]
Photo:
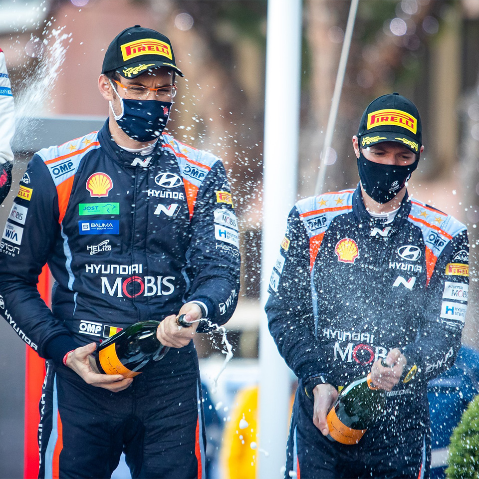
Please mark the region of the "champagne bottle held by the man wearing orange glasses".
[[[177, 319], [178, 324], [191, 326], [184, 317], [182, 314]], [[151, 359], [162, 359], [170, 348], [156, 337], [159, 324], [160, 321], [141, 321], [102, 341], [94, 353], [98, 371], [132, 378], [140, 374]]]

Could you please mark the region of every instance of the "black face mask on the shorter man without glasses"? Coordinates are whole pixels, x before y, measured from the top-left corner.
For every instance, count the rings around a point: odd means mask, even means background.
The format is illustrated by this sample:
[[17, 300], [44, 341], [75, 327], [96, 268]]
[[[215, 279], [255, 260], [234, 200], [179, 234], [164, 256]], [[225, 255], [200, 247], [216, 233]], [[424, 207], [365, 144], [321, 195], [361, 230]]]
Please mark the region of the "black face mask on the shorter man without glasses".
[[387, 203], [404, 188], [418, 163], [419, 158], [408, 166], [382, 165], [368, 160], [359, 150], [359, 178], [369, 197], [377, 203]]

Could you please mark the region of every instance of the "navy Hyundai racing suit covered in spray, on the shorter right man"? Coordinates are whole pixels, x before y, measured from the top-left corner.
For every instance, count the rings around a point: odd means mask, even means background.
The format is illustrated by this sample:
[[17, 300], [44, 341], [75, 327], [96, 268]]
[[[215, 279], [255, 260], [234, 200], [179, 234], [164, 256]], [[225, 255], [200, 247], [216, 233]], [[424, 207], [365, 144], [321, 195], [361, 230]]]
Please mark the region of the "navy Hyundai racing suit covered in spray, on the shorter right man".
[[[466, 227], [407, 193], [388, 224], [368, 214], [359, 186], [294, 206], [265, 306], [299, 378], [285, 478], [428, 476], [427, 385], [461, 347], [468, 259]], [[345, 386], [393, 348], [407, 366], [382, 414], [358, 444], [329, 441], [313, 424], [314, 387]]]

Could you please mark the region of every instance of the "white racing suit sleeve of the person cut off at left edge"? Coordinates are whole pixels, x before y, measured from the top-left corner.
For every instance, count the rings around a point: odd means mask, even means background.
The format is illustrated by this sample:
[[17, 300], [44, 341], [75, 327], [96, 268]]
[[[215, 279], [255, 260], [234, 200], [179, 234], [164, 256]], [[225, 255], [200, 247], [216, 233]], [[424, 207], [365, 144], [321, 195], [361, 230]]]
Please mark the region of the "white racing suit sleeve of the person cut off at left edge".
[[0, 204], [8, 195], [11, 186], [13, 153], [10, 142], [14, 133], [13, 97], [6, 71], [5, 55], [0, 48]]

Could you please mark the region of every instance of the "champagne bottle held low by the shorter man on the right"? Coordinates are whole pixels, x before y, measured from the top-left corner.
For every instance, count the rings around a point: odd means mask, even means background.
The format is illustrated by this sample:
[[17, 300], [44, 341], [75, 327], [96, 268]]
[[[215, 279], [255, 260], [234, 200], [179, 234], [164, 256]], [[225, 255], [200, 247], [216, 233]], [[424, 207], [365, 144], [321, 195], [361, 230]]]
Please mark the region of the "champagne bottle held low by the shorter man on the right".
[[356, 379], [340, 392], [327, 415], [328, 439], [357, 444], [371, 420], [384, 408], [385, 401], [385, 391], [371, 384], [371, 373]]

